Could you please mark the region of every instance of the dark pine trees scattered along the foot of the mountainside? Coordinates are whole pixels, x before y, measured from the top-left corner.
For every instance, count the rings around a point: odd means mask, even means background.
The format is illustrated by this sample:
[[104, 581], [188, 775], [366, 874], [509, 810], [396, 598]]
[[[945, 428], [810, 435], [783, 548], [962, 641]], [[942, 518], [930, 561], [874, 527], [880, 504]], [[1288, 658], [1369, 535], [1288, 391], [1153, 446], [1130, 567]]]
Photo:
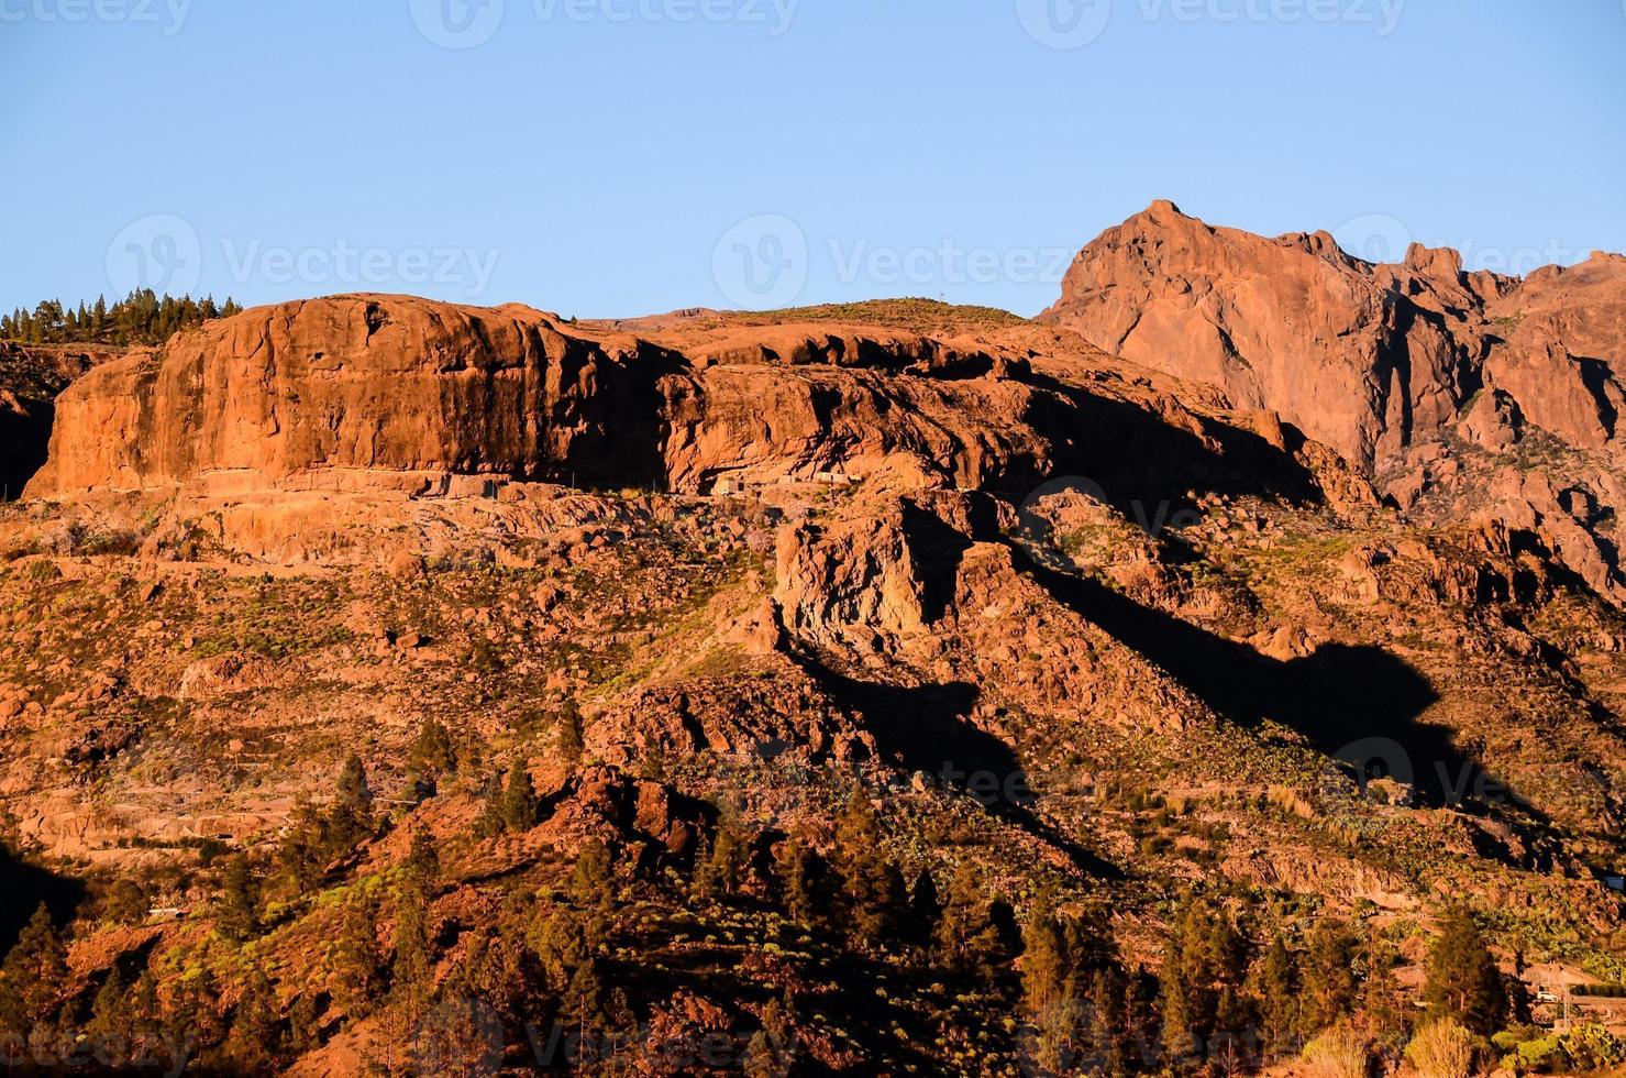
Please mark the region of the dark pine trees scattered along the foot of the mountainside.
[[[558, 738], [579, 743], [579, 719], [558, 724]], [[459, 767], [444, 725], [426, 722], [410, 754], [415, 784], [433, 795]], [[524, 834], [541, 808], [525, 767], [486, 782], [488, 806], [473, 824], [489, 841]], [[727, 806], [676, 886], [693, 911], [772, 907], [800, 930], [857, 961], [902, 964], [977, 993], [1010, 1015], [1020, 1050], [1037, 1073], [1236, 1073], [1296, 1055], [1332, 1028], [1356, 1024], [1366, 1042], [1398, 1058], [1415, 1013], [1395, 980], [1397, 954], [1382, 937], [1361, 937], [1338, 919], [1322, 919], [1306, 938], [1288, 940], [1241, 924], [1233, 904], [1184, 896], [1169, 922], [1156, 974], [1122, 959], [1111, 925], [1096, 914], [1063, 914], [1042, 891], [1018, 924], [1016, 911], [963, 862], [943, 891], [933, 876], [911, 880], [886, 855], [885, 828], [865, 790], [855, 789], [836, 818], [826, 850], [793, 837], [753, 834]], [[260, 868], [246, 854], [221, 865], [208, 911], [215, 933], [252, 948], [275, 927], [286, 902], [328, 893], [348, 878], [363, 845], [385, 829], [366, 769], [346, 759], [325, 808], [298, 806], [273, 857]], [[561, 889], [525, 888], [496, 896], [496, 914], [468, 925], [452, 977], [436, 979], [446, 958], [436, 899], [449, 889], [436, 842], [418, 829], [387, 886], [346, 888], [330, 924], [325, 990], [306, 987], [281, 1005], [260, 959], [231, 992], [205, 971], [197, 976], [130, 977], [114, 969], [88, 1006], [70, 997], [65, 945], [41, 907], [0, 967], [0, 1029], [73, 1041], [80, 1031], [130, 1050], [180, 1031], [200, 1058], [234, 1073], [270, 1070], [317, 1047], [341, 1024], [377, 1016], [420, 1050], [429, 1029], [437, 1067], [478, 1063], [527, 1031], [566, 1031], [572, 1050], [615, 1055], [639, 1036], [628, 995], [610, 987], [618, 912], [644, 873], [615, 863], [611, 849], [589, 841]], [[649, 880], [646, 880], [649, 883]], [[104, 919], [140, 922], [146, 902], [119, 888], [104, 898]], [[380, 927], [389, 927], [380, 933]], [[1265, 943], [1259, 937], [1265, 935]], [[636, 943], [623, 938], [621, 943]], [[247, 954], [246, 954], [247, 958]], [[1449, 914], [1428, 959], [1424, 1002], [1488, 1037], [1509, 1018], [1524, 1018], [1519, 993], [1498, 971], [1465, 912]], [[229, 1002], [229, 1003], [228, 1003]], [[761, 1029], [741, 1049], [748, 1075], [782, 1075], [795, 1055], [793, 993], [761, 1010]], [[442, 1028], [444, 1026], [444, 1028]], [[161, 1036], [158, 1031], [164, 1031]], [[392, 1032], [392, 1036], [393, 1036]], [[946, 1031], [953, 1036], [956, 1031]]]

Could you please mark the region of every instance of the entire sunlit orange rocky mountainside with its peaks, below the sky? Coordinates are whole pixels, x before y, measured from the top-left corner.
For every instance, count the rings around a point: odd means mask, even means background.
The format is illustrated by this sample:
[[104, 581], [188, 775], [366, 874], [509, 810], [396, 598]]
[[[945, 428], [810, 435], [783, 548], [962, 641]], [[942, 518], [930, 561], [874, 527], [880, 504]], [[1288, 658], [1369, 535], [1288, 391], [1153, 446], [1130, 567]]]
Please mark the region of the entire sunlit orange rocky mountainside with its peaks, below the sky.
[[[1457, 906], [1509, 985], [1618, 982], [1619, 267], [1158, 203], [1036, 322], [333, 296], [96, 364], [0, 506], [0, 943], [49, 967], [0, 1032], [1398, 1060]], [[1350, 984], [1265, 1044], [1273, 941]]]

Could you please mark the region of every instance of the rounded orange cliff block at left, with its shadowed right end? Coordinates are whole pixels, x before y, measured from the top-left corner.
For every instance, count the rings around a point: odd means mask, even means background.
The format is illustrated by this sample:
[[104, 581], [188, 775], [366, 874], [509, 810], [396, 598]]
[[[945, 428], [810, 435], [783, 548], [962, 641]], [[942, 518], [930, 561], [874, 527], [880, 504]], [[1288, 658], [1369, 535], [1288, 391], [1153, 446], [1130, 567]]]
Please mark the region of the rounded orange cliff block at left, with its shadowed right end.
[[111, 363], [59, 398], [33, 494], [176, 486], [247, 472], [384, 468], [647, 476], [670, 367], [528, 307], [393, 296], [247, 311]]

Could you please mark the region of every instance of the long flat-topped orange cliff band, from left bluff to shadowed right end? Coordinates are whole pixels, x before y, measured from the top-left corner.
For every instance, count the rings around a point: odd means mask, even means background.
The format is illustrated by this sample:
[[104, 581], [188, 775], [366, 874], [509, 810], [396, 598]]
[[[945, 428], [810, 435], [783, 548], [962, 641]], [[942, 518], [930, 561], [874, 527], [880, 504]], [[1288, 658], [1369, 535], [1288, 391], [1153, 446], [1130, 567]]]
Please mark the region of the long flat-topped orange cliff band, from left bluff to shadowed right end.
[[[976, 345], [787, 324], [652, 343], [520, 306], [262, 307], [72, 385], [28, 491], [410, 488], [447, 473], [686, 493], [841, 478], [1031, 489], [1059, 472], [1224, 455], [1166, 393], [1060, 380], [1107, 359], [1076, 338], [1039, 332], [1037, 374], [1023, 337], [1036, 330], [1013, 332]], [[1145, 452], [1120, 460], [1128, 446]], [[1276, 455], [1262, 476], [1296, 468]]]

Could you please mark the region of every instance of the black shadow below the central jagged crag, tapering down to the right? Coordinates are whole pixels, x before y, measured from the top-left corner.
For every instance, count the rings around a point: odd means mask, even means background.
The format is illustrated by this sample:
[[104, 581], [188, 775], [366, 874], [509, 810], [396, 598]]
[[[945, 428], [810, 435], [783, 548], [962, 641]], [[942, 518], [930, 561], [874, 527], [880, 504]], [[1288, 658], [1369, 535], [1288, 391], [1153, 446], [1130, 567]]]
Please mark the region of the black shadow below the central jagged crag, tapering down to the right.
[[1062, 850], [1080, 872], [1122, 875], [1033, 811], [1036, 798], [1015, 750], [967, 719], [980, 696], [977, 686], [953, 681], [909, 688], [860, 681], [810, 655], [798, 655], [795, 662], [833, 701], [863, 717], [865, 730], [885, 758], [969, 793], [1000, 819]]

